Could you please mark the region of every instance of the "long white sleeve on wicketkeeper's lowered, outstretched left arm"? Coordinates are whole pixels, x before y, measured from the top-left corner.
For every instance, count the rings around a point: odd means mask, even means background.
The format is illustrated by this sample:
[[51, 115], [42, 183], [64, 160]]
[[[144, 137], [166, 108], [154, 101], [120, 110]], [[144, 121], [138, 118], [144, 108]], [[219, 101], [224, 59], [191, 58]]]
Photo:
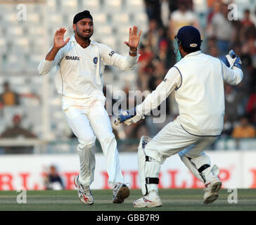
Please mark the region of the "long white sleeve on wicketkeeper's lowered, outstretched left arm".
[[165, 101], [172, 91], [179, 89], [182, 83], [182, 77], [179, 70], [172, 67], [165, 76], [165, 79], [157, 86], [155, 91], [149, 94], [143, 103], [136, 106], [136, 113], [139, 115], [148, 115], [151, 110], [155, 109]]

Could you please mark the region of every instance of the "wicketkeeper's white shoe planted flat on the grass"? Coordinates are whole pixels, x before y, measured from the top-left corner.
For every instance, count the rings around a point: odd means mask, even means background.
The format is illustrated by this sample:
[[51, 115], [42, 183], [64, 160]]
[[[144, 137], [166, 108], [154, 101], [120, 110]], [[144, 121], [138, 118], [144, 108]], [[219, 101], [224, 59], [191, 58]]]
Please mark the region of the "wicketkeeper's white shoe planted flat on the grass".
[[143, 208], [143, 207], [160, 207], [162, 206], [162, 201], [155, 191], [148, 193], [147, 195], [139, 198], [134, 202], [134, 207]]

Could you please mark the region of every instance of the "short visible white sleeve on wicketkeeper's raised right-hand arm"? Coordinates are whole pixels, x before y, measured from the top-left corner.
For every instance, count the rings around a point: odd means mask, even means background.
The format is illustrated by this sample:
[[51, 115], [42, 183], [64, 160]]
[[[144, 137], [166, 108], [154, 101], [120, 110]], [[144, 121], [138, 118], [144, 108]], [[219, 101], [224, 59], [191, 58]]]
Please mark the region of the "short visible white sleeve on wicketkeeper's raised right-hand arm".
[[239, 84], [243, 79], [243, 71], [236, 66], [228, 68], [222, 61], [222, 77], [225, 82], [231, 85]]

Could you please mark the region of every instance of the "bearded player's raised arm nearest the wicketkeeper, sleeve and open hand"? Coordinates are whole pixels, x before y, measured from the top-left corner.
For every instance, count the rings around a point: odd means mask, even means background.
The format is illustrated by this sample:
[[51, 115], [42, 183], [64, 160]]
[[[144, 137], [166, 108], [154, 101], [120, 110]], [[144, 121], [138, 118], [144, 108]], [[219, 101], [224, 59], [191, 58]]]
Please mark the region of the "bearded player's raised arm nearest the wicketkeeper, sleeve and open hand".
[[110, 47], [105, 44], [99, 44], [99, 51], [101, 60], [105, 65], [114, 65], [120, 70], [133, 70], [135, 63], [139, 59], [137, 49], [139, 46], [139, 39], [141, 37], [141, 31], [137, 34], [138, 28], [129, 28], [129, 41], [124, 41], [124, 44], [129, 46], [129, 55], [121, 56], [115, 53]]

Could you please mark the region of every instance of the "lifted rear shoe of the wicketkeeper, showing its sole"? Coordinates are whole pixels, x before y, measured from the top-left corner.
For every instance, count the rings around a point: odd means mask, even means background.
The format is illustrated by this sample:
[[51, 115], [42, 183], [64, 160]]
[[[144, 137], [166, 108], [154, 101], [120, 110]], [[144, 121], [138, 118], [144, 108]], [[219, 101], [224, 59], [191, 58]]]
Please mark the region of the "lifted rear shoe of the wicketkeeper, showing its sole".
[[203, 195], [203, 203], [213, 203], [219, 197], [219, 189], [222, 187], [222, 181], [219, 180], [218, 176], [215, 176], [212, 181], [205, 184], [205, 194]]

